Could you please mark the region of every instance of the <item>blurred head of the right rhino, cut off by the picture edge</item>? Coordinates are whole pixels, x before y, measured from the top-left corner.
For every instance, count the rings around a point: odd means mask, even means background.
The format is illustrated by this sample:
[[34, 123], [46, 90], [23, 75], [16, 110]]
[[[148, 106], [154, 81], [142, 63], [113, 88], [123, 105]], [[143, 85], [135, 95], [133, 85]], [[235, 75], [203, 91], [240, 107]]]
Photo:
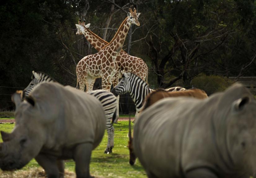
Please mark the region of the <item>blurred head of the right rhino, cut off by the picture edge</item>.
[[[215, 113], [217, 146], [225, 163], [256, 175], [256, 100], [241, 84], [219, 97]], [[249, 176], [248, 176], [249, 177]]]

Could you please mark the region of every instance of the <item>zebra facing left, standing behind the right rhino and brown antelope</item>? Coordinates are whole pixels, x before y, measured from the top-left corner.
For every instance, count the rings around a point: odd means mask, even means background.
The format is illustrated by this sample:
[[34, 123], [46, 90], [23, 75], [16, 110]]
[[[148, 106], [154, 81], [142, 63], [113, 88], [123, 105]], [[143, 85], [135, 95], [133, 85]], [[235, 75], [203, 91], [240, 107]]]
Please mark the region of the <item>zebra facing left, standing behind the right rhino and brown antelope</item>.
[[[186, 89], [183, 87], [171, 87], [165, 90], [183, 91]], [[118, 85], [111, 90], [115, 96], [119, 96], [124, 93], [130, 93], [130, 96], [136, 106], [135, 119], [137, 118], [138, 113], [143, 109], [144, 99], [152, 91], [154, 91], [154, 89], [150, 89], [144, 80], [131, 72], [123, 72], [122, 79]]]

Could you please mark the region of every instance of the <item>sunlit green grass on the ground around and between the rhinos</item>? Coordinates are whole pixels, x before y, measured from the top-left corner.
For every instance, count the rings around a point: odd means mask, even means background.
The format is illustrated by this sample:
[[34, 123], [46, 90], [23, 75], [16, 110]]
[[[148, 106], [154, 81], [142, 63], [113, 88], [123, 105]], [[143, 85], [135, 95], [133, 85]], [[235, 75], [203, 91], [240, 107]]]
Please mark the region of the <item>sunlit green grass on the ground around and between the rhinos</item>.
[[[107, 145], [108, 137], [107, 132], [104, 134], [104, 138], [100, 145], [93, 150], [91, 163], [90, 163], [90, 174], [100, 177], [118, 177], [118, 178], [142, 178], [147, 177], [143, 167], [137, 160], [134, 166], [129, 164], [129, 150], [127, 148], [128, 142], [128, 123], [129, 121], [119, 121], [114, 124], [115, 137], [113, 148], [113, 153], [104, 154], [104, 150]], [[5, 132], [11, 132], [14, 124], [0, 124], [0, 130]], [[0, 137], [2, 142], [2, 137]], [[29, 168], [39, 167], [38, 163], [33, 159], [31, 160], [23, 170], [28, 170]], [[65, 168], [68, 171], [75, 170], [75, 163], [73, 160], [65, 161]], [[1, 171], [0, 171], [1, 174]]]

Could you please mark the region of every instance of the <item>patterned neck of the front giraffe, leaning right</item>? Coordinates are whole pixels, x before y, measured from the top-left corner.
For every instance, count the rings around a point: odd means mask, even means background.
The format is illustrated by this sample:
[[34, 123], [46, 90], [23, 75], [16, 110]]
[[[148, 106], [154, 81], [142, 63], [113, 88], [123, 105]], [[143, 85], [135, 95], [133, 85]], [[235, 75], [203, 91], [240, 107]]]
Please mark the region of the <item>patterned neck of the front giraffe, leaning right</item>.
[[128, 19], [128, 17], [126, 17], [125, 20], [122, 22], [122, 24], [120, 25], [120, 27], [117, 30], [117, 33], [113, 37], [113, 39], [109, 42], [108, 45], [106, 45], [106, 46], [109, 46], [113, 52], [119, 53], [124, 45], [126, 35], [131, 26], [131, 23], [128, 22], [127, 19]]

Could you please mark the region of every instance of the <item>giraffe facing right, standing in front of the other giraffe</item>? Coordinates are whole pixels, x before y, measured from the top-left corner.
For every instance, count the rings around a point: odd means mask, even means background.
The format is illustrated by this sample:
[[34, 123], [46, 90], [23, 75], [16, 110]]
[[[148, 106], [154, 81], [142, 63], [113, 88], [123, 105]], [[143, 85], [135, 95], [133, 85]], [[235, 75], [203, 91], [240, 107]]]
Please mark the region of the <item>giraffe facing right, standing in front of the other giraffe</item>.
[[135, 8], [134, 12], [130, 8], [129, 10], [130, 12], [128, 12], [113, 39], [98, 53], [85, 56], [78, 62], [76, 73], [77, 85], [79, 83], [80, 90], [84, 91], [86, 85], [86, 92], [91, 91], [96, 78], [102, 78], [102, 89], [110, 91], [114, 75], [118, 69], [116, 58], [124, 44], [130, 25], [140, 25], [138, 21], [140, 13], [136, 13]]

